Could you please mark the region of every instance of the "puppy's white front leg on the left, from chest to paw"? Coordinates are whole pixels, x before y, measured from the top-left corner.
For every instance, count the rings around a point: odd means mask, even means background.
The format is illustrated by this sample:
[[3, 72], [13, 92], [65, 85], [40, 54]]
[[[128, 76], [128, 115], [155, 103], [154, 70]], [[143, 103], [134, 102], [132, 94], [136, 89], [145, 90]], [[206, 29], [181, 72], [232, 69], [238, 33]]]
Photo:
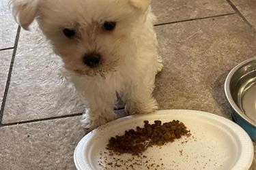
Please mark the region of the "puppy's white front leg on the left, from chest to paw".
[[81, 76], [68, 69], [61, 68], [61, 77], [72, 82], [70, 86], [74, 86], [77, 94], [85, 103], [86, 109], [83, 114], [83, 126], [86, 129], [95, 129], [116, 118], [113, 108], [116, 101], [115, 88], [111, 82], [106, 82], [104, 78], [89, 78]]

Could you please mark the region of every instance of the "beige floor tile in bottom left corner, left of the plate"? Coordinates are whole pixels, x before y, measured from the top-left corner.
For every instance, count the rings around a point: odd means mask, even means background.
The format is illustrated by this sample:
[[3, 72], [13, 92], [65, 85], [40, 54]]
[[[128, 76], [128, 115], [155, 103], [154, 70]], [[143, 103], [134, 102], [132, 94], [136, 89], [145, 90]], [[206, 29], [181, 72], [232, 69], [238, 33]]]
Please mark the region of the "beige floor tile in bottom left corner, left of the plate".
[[0, 169], [75, 169], [81, 116], [0, 128]]

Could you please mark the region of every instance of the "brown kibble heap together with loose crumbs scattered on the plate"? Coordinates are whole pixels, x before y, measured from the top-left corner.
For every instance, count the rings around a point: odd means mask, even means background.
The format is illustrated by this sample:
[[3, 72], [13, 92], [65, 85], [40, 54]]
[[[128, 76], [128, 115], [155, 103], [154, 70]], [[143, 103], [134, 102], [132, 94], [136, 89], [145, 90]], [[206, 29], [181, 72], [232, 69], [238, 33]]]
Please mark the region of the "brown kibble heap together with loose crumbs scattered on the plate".
[[[143, 152], [152, 146], [159, 146], [158, 148], [161, 148], [165, 143], [173, 142], [182, 136], [189, 137], [190, 131], [179, 120], [163, 124], [160, 120], [155, 120], [153, 124], [150, 124], [148, 120], [144, 120], [143, 127], [137, 126], [136, 129], [126, 130], [124, 135], [111, 137], [106, 146], [108, 152], [100, 152], [100, 159], [102, 161], [98, 161], [98, 165], [102, 169], [122, 167], [123, 169], [135, 170], [138, 166], [145, 166], [144, 169], [158, 169], [158, 167], [164, 165], [163, 163], [157, 164], [162, 158], [158, 158], [158, 161], [155, 161], [151, 157], [147, 158]], [[187, 142], [186, 140], [188, 141], [188, 138], [182, 143]], [[126, 160], [114, 157], [114, 154], [121, 155], [124, 153], [132, 154], [132, 156]], [[180, 150], [180, 154], [182, 154], [182, 150]], [[112, 157], [111, 160], [108, 159], [109, 157]]]

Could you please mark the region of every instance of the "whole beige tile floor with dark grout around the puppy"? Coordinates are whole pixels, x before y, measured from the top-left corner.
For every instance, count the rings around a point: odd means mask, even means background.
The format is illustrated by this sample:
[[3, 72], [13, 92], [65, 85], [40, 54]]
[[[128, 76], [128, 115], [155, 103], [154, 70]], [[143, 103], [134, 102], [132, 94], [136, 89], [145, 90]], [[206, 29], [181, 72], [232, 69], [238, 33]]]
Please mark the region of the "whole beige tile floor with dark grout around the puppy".
[[[223, 84], [256, 56], [256, 0], [152, 0], [152, 8], [165, 63], [154, 91], [160, 109], [231, 118]], [[59, 58], [37, 24], [20, 29], [1, 0], [0, 25], [0, 169], [74, 169], [83, 103], [61, 83]]]

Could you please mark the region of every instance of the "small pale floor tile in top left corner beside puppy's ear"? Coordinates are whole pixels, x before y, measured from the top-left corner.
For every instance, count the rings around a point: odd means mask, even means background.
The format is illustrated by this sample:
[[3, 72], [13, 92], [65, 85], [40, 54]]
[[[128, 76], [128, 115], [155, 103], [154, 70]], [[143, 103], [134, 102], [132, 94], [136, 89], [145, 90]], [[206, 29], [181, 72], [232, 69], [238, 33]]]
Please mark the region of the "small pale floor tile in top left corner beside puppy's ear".
[[0, 49], [14, 47], [18, 24], [8, 7], [8, 0], [0, 0]]

